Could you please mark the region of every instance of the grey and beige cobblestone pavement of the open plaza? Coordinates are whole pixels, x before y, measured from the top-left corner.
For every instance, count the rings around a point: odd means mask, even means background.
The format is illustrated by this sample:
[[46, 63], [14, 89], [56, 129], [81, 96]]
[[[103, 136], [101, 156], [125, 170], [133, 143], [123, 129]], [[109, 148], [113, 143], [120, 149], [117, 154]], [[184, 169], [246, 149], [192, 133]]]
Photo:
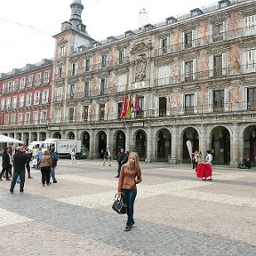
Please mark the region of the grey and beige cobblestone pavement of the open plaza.
[[213, 166], [197, 180], [190, 164], [141, 163], [135, 225], [111, 209], [116, 162], [60, 159], [58, 183], [39, 171], [9, 195], [0, 182], [0, 255], [256, 255], [256, 170]]

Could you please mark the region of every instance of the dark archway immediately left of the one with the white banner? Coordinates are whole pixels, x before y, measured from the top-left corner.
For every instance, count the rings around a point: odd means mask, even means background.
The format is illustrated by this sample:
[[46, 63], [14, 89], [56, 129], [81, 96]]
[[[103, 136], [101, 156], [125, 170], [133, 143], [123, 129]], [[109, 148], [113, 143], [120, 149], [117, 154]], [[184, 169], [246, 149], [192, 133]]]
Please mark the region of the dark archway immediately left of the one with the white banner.
[[163, 129], [156, 134], [157, 152], [156, 161], [168, 162], [168, 156], [171, 155], [171, 132]]

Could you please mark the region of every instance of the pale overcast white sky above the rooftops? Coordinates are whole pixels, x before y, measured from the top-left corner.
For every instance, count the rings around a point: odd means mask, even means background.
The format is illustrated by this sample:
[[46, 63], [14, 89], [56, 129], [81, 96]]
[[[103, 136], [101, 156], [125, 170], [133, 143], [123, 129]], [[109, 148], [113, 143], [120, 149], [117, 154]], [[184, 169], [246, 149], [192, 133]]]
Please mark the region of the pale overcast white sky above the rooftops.
[[[71, 16], [73, 0], [2, 0], [0, 3], [0, 73], [27, 63], [52, 59], [61, 23]], [[215, 4], [214, 0], [82, 0], [82, 20], [93, 39], [100, 41], [138, 28], [145, 8], [151, 23]]]

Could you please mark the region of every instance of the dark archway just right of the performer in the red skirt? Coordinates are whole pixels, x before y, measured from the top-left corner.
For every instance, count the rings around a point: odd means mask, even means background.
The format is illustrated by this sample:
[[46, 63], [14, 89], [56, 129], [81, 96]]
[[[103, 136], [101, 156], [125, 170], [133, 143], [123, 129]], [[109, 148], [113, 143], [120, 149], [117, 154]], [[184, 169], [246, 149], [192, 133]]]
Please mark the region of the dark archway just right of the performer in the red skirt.
[[217, 126], [212, 130], [211, 151], [213, 164], [230, 163], [230, 134], [227, 128]]

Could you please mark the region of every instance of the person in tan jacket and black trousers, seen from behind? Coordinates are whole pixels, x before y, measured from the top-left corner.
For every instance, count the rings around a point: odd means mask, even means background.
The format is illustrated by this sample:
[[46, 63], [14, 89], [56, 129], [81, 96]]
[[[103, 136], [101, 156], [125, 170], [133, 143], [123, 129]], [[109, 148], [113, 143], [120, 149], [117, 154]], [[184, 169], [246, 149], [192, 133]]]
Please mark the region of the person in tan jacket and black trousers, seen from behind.
[[50, 156], [50, 151], [45, 150], [43, 156], [41, 156], [39, 163], [38, 163], [38, 168], [41, 170], [41, 175], [42, 175], [42, 184], [44, 187], [45, 181], [46, 185], [50, 186], [50, 172], [52, 168], [52, 159]]

